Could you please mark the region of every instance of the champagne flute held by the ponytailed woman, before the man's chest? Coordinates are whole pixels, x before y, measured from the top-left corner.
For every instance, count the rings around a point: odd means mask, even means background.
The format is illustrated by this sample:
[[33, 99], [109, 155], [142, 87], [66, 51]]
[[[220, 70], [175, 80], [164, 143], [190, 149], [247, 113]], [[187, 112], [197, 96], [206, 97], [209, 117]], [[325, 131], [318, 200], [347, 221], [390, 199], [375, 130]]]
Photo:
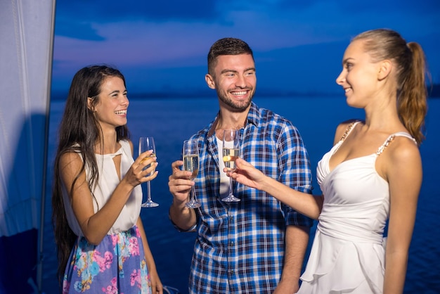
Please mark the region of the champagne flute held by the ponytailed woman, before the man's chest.
[[[235, 170], [235, 160], [238, 158], [240, 153], [240, 143], [239, 143], [239, 131], [238, 129], [225, 129], [223, 134], [223, 162], [225, 167], [233, 171]], [[224, 202], [238, 202], [240, 198], [233, 196], [232, 193], [232, 182], [233, 179], [229, 178], [229, 195], [222, 198]]]

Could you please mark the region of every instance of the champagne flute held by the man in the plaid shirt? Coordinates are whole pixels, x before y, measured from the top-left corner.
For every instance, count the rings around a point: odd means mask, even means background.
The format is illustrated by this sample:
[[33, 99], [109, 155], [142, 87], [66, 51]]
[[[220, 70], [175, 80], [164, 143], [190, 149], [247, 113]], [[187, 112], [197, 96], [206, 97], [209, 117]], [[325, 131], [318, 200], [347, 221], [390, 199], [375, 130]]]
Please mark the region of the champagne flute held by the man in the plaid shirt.
[[[199, 148], [197, 140], [183, 141], [183, 170], [192, 172], [190, 175], [191, 180], [197, 177], [199, 172]], [[185, 205], [190, 208], [200, 207], [200, 203], [195, 199], [193, 186], [191, 186], [191, 199]]]

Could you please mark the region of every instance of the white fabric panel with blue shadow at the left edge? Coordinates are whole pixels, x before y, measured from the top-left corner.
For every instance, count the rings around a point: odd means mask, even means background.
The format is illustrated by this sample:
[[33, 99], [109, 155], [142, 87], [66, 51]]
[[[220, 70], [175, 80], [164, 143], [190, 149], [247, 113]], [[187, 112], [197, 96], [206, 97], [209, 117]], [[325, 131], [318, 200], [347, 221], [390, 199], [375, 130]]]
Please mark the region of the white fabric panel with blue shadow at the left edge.
[[0, 236], [39, 226], [54, 5], [0, 1]]

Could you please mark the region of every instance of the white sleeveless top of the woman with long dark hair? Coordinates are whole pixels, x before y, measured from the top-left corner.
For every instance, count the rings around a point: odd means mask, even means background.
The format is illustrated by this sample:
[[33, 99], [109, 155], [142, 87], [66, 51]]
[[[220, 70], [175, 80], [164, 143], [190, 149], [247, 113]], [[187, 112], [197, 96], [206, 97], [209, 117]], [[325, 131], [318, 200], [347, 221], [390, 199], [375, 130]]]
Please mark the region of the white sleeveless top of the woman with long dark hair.
[[[93, 188], [93, 195], [95, 196], [93, 199], [93, 210], [94, 212], [98, 212], [105, 203], [107, 203], [108, 199], [112, 195], [113, 191], [115, 191], [116, 186], [119, 184], [119, 177], [117, 176], [117, 172], [115, 169], [115, 162], [113, 158], [116, 155], [121, 155], [121, 166], [120, 166], [120, 174], [121, 179], [125, 176], [129, 168], [134, 162], [133, 155], [131, 155], [131, 148], [128, 141], [119, 141], [121, 144], [121, 148], [118, 151], [112, 154], [96, 154], [96, 162], [98, 164], [98, 183]], [[82, 156], [80, 155], [82, 158]], [[90, 167], [86, 166], [86, 177], [89, 179]], [[70, 203], [70, 198], [67, 195], [67, 191], [63, 186], [63, 200], [65, 203], [65, 212], [67, 215], [67, 222], [69, 223], [70, 229], [77, 236], [84, 236], [82, 234], [82, 229], [78, 224], [77, 218], [73, 213], [72, 207], [67, 205]], [[117, 217], [115, 224], [113, 224], [110, 231], [108, 231], [108, 235], [117, 234], [121, 231], [127, 231], [134, 224], [136, 224], [139, 214], [141, 213], [141, 203], [142, 203], [142, 188], [140, 185], [134, 187], [133, 191], [131, 191], [131, 195], [127, 203], [125, 203], [122, 208], [119, 217]]]

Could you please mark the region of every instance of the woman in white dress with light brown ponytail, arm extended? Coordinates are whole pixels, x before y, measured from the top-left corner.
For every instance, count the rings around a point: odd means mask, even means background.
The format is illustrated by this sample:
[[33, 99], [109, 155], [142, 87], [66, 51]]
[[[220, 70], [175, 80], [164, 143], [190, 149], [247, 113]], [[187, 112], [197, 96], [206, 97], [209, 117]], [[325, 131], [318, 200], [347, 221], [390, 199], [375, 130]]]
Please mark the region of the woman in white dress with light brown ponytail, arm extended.
[[351, 41], [342, 65], [336, 82], [365, 120], [337, 127], [318, 162], [323, 196], [292, 190], [241, 159], [229, 176], [319, 220], [298, 293], [402, 293], [422, 184], [425, 54], [397, 32], [370, 30]]

